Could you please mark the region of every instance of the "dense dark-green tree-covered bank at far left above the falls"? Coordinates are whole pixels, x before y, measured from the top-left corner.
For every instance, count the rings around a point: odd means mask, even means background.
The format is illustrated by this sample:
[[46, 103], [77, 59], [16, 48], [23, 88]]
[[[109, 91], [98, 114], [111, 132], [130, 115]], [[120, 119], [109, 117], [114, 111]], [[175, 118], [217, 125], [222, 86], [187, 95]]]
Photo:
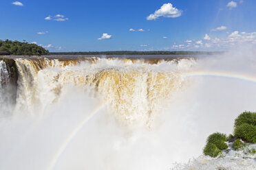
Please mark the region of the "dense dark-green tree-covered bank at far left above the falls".
[[17, 40], [0, 40], [0, 55], [14, 55], [14, 56], [42, 56], [49, 55], [49, 51], [43, 47], [35, 44], [28, 44], [28, 42], [19, 42]]

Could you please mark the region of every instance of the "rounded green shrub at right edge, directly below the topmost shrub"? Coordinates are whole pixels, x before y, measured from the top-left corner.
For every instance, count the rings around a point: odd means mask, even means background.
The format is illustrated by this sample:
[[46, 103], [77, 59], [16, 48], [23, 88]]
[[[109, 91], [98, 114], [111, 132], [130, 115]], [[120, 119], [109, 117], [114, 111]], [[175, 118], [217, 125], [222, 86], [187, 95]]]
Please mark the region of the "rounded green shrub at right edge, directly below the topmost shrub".
[[256, 143], [256, 126], [243, 123], [235, 127], [235, 137], [242, 138], [242, 140], [249, 143]]

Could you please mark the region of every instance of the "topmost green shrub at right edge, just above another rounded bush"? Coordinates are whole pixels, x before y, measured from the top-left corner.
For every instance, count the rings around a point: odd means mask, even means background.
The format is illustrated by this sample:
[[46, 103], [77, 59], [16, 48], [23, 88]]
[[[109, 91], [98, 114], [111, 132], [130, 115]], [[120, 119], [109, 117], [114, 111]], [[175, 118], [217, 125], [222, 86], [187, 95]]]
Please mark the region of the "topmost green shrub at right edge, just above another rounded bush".
[[256, 125], [256, 112], [242, 112], [237, 119], [235, 119], [235, 127], [247, 123], [249, 125]]

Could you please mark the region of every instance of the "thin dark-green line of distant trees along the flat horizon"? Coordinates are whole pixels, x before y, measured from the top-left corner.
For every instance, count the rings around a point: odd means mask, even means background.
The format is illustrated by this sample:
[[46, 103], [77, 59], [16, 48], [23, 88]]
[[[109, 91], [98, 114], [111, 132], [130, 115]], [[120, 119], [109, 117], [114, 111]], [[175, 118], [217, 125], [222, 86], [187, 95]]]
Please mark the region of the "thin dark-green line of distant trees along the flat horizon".
[[53, 52], [52, 55], [209, 55], [223, 52], [207, 51], [88, 51], [88, 52]]

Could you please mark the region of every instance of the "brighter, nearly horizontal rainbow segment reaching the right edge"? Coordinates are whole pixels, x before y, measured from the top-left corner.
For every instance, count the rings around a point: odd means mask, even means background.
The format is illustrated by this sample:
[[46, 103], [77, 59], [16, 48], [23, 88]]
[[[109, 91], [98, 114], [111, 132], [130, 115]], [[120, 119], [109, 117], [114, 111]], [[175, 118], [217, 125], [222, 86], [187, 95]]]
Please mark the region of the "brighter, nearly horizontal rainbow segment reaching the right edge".
[[244, 73], [224, 72], [224, 71], [189, 71], [184, 73], [186, 77], [200, 77], [200, 76], [212, 76], [212, 77], [226, 77], [238, 80], [245, 80], [248, 82], [256, 82], [256, 76], [246, 75]]

